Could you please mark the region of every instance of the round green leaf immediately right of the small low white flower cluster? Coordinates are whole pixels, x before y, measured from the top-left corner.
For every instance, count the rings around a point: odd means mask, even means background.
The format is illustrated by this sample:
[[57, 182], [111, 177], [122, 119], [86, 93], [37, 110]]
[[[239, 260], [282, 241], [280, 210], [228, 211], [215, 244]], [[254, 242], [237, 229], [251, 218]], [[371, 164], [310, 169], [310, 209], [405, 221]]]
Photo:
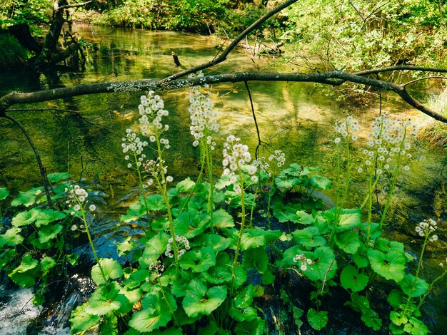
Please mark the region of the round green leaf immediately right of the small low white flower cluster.
[[308, 279], [330, 280], [335, 276], [337, 262], [330, 247], [317, 247], [312, 253], [303, 252], [303, 254], [312, 259], [312, 264], [308, 264], [306, 271], [303, 272]]

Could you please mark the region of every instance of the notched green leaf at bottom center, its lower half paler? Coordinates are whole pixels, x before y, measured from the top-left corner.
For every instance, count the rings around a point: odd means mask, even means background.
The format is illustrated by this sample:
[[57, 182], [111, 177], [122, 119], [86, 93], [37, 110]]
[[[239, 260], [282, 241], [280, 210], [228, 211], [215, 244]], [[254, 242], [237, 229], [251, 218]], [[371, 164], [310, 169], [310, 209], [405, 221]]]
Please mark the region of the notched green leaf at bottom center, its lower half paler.
[[215, 286], [207, 289], [203, 282], [192, 279], [186, 289], [182, 305], [188, 316], [195, 317], [199, 314], [211, 314], [225, 299], [226, 287]]

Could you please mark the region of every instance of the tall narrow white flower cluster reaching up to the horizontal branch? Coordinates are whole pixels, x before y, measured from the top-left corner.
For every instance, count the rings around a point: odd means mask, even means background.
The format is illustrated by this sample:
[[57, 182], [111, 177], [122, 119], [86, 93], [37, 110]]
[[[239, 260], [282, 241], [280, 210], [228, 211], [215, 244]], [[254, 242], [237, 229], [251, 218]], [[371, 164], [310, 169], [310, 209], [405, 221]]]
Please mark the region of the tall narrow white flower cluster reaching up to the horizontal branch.
[[[192, 74], [189, 78], [193, 78]], [[198, 77], [204, 76], [201, 71]], [[211, 101], [211, 92], [202, 93], [202, 88], [209, 88], [207, 84], [204, 86], [194, 86], [189, 93], [189, 116], [191, 118], [191, 135], [194, 136], [194, 147], [198, 146], [201, 141], [206, 140], [211, 150], [214, 150], [216, 143], [211, 136], [212, 133], [219, 132], [219, 123], [217, 123], [217, 113], [214, 111], [214, 105]]]

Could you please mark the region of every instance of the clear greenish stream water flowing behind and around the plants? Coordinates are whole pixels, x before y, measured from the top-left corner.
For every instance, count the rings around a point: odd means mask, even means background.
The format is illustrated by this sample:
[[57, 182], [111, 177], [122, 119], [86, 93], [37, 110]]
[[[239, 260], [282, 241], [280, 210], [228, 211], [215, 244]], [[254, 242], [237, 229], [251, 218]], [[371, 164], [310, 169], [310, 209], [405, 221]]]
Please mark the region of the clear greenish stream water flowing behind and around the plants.
[[[109, 29], [92, 26], [74, 26], [74, 31], [92, 43], [96, 51], [87, 55], [86, 71], [64, 72], [59, 76], [31, 75], [28, 71], [5, 71], [0, 74], [0, 95], [10, 91], [36, 91], [39, 89], [73, 86], [82, 83], [123, 81], [140, 78], [163, 78], [179, 68], [174, 66], [171, 52], [179, 55], [182, 68], [204, 63], [217, 53], [215, 42], [209, 38], [172, 32]], [[298, 71], [299, 68], [284, 64], [281, 58], [273, 61], [253, 58], [243, 52], [233, 52], [226, 62], [216, 66], [215, 72], [236, 71]], [[308, 83], [249, 83], [253, 96], [261, 139], [274, 148], [286, 152], [287, 163], [321, 166], [322, 174], [334, 176], [333, 124], [354, 115], [365, 127], [378, 115], [378, 105], [346, 107], [328, 96], [327, 91]], [[85, 178], [98, 191], [94, 197], [99, 207], [96, 217], [95, 238], [100, 257], [116, 257], [116, 242], [128, 234], [129, 226], [119, 222], [119, 214], [138, 195], [134, 175], [126, 169], [121, 153], [121, 137], [126, 128], [137, 129], [139, 93], [109, 93], [54, 100], [14, 108], [34, 110], [11, 112], [29, 131], [48, 172], [67, 171], [74, 180]], [[196, 175], [197, 151], [191, 145], [187, 90], [162, 94], [169, 110], [171, 149], [166, 157], [169, 170], [180, 181]], [[253, 150], [256, 130], [251, 115], [248, 94], [243, 84], [221, 84], [212, 88], [212, 98], [219, 111], [221, 140], [231, 133], [238, 135]], [[53, 108], [52, 110], [48, 110]], [[46, 110], [45, 110], [46, 109]], [[393, 96], [385, 96], [383, 111], [410, 113], [406, 105]], [[426, 123], [427, 118], [418, 121]], [[0, 120], [0, 187], [7, 186], [13, 193], [41, 185], [39, 170], [26, 139], [7, 120]], [[362, 136], [361, 136], [362, 138]], [[418, 254], [421, 241], [413, 234], [413, 227], [426, 217], [441, 218], [446, 222], [445, 187], [441, 150], [419, 140], [413, 153], [410, 172], [398, 183], [391, 211], [394, 237], [406, 243], [413, 254]], [[219, 161], [219, 160], [216, 160]], [[443, 175], [444, 173], [444, 175]], [[358, 205], [364, 195], [362, 181], [353, 183], [348, 205]], [[328, 192], [328, 196], [332, 196]], [[6, 215], [11, 213], [3, 204]], [[391, 234], [391, 233], [390, 233]], [[443, 224], [441, 233], [446, 237]], [[445, 238], [444, 238], [445, 240]], [[426, 277], [432, 279], [439, 273], [439, 259], [446, 257], [447, 244], [440, 241], [428, 250]], [[77, 252], [86, 254], [88, 267], [89, 249], [79, 247]], [[91, 282], [87, 274], [76, 274], [62, 291], [62, 299], [54, 301], [54, 308], [42, 310], [26, 301], [29, 290], [0, 288], [0, 334], [67, 334], [67, 311], [80, 301], [79, 292], [88, 294]], [[74, 293], [78, 292], [78, 293]], [[443, 334], [447, 326], [447, 283], [441, 283], [424, 305], [424, 320], [433, 334]], [[24, 306], [22, 310], [22, 306]], [[281, 314], [278, 310], [276, 314]], [[351, 311], [347, 311], [349, 315]], [[19, 315], [19, 316], [17, 316]], [[40, 316], [39, 316], [40, 315]], [[276, 315], [276, 317], [278, 317]], [[39, 316], [39, 317], [37, 317]], [[345, 315], [346, 316], [346, 315]], [[328, 328], [328, 334], [358, 334], [357, 325], [346, 325], [339, 317], [337, 326]], [[271, 311], [273, 317], [273, 311]], [[37, 319], [36, 319], [37, 318]], [[281, 330], [272, 330], [283, 334]], [[287, 333], [285, 333], [287, 334]], [[311, 334], [311, 333], [308, 333]], [[363, 333], [365, 334], [365, 333]]]

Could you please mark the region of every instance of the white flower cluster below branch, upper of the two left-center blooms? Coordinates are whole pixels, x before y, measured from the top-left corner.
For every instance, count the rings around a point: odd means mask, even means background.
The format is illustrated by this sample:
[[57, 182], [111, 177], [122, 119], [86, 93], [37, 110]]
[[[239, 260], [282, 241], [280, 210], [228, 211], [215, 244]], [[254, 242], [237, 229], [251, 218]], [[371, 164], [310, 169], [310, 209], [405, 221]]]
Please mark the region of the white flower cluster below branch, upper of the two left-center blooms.
[[[141, 133], [149, 135], [152, 129], [156, 129], [159, 135], [169, 129], [169, 125], [163, 125], [161, 119], [168, 116], [169, 112], [164, 109], [164, 101], [154, 91], [149, 91], [147, 96], [141, 96], [141, 104], [138, 106]], [[151, 141], [151, 142], [155, 142]]]

